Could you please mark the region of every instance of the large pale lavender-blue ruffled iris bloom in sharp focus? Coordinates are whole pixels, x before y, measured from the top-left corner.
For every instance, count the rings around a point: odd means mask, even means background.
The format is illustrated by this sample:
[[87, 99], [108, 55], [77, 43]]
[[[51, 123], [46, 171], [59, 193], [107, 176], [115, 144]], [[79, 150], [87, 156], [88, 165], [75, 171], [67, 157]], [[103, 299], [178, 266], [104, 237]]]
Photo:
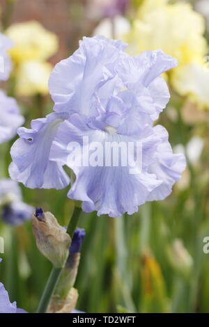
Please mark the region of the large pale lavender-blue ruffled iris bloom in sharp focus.
[[[173, 154], [164, 127], [153, 122], [169, 101], [167, 83], [160, 77], [178, 63], [162, 50], [139, 56], [124, 52], [121, 40], [84, 38], [75, 54], [58, 63], [49, 79], [54, 113], [20, 128], [11, 149], [10, 176], [31, 188], [61, 189], [69, 184], [63, 170], [76, 180], [68, 197], [82, 200], [85, 212], [109, 216], [137, 212], [150, 200], [163, 200], [185, 169], [185, 157]], [[130, 175], [130, 166], [79, 166], [69, 162], [69, 143], [83, 151], [89, 143], [109, 141], [142, 145], [142, 165]], [[134, 148], [135, 151], [135, 148]], [[135, 154], [135, 152], [134, 152]], [[134, 155], [132, 157], [134, 161]]]

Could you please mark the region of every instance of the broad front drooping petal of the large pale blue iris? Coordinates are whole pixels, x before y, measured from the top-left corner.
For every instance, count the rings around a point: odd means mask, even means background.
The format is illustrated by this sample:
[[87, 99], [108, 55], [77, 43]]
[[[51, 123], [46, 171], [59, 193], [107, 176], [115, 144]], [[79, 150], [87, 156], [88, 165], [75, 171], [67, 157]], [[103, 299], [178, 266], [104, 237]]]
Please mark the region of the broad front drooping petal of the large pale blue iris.
[[[91, 160], [92, 152], [91, 150], [89, 152], [88, 146], [83, 143], [83, 136], [88, 137], [89, 148], [93, 142], [97, 142], [103, 146], [102, 151], [107, 142], [123, 142], [126, 145], [128, 142], [135, 142], [133, 138], [127, 136], [90, 129], [87, 127], [87, 120], [85, 125], [85, 120], [85, 117], [75, 114], [70, 121], [65, 121], [57, 132], [50, 154], [51, 159], [61, 160], [61, 163], [72, 168], [76, 175], [68, 197], [84, 201], [84, 211], [97, 210], [98, 215], [109, 214], [117, 217], [124, 212], [128, 214], [137, 212], [138, 206], [146, 201], [148, 194], [159, 186], [161, 181], [156, 180], [155, 175], [147, 173], [144, 168], [140, 170], [139, 166], [135, 168], [136, 173], [130, 173], [132, 162], [128, 162], [127, 166], [120, 163], [119, 166], [113, 166], [112, 163], [111, 166], [105, 166], [105, 156], [102, 157], [102, 166], [100, 164], [92, 166], [90, 161], [89, 165], [87, 162], [88, 166], [84, 166], [88, 154]], [[153, 139], [153, 142], [156, 141]], [[73, 144], [73, 150], [70, 143]], [[75, 161], [70, 157], [72, 151]]]

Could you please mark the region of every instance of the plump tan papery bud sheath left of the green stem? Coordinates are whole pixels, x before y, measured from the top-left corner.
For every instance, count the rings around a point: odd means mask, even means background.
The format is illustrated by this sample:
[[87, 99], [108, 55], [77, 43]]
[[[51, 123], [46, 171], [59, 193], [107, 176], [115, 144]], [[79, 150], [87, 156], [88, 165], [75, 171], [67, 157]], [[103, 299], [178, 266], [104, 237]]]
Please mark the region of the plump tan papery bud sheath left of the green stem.
[[34, 215], [32, 224], [40, 252], [52, 262], [54, 267], [65, 266], [71, 241], [66, 230], [59, 225], [51, 212]]

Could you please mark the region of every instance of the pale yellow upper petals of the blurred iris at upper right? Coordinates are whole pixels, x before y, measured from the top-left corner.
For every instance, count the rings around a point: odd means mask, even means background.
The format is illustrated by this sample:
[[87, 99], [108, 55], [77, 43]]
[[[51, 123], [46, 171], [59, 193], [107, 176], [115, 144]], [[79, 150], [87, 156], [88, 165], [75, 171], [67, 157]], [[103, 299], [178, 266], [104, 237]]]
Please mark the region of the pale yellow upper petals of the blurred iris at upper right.
[[125, 37], [130, 52], [139, 54], [144, 50], [162, 49], [178, 58], [180, 64], [206, 54], [203, 17], [189, 4], [167, 4], [163, 0], [157, 1], [155, 6], [149, 3], [144, 1], [132, 31]]

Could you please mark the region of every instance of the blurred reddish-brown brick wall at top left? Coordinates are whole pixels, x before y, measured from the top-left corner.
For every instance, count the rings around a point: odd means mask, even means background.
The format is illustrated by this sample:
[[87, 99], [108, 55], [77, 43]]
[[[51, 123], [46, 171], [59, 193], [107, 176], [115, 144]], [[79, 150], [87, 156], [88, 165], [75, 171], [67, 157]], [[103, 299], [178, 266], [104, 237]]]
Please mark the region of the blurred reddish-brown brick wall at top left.
[[38, 20], [59, 36], [59, 52], [50, 60], [54, 64], [75, 51], [83, 35], [91, 35], [96, 23], [88, 18], [88, 1], [0, 0], [2, 29], [14, 22]]

